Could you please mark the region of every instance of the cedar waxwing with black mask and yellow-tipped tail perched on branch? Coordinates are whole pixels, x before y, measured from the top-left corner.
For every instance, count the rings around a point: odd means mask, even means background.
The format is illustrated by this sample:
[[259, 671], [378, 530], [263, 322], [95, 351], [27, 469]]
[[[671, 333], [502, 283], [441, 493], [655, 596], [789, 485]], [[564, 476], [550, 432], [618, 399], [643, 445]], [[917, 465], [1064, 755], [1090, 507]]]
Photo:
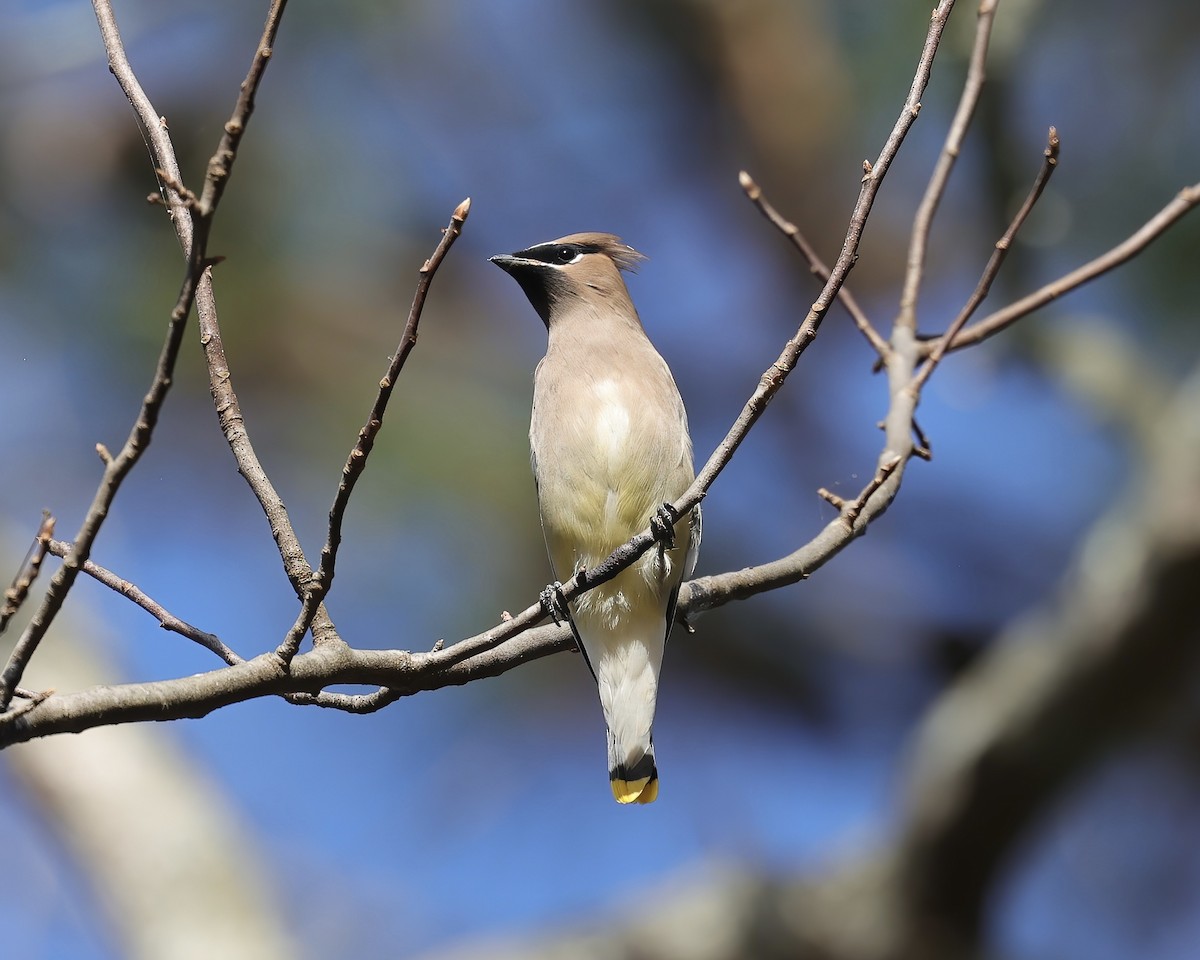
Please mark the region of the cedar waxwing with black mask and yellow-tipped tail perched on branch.
[[[491, 259], [521, 284], [550, 334], [534, 374], [529, 444], [560, 582], [655, 517], [671, 524], [662, 505], [695, 476], [688, 416], [620, 276], [641, 253], [612, 234], [577, 233]], [[673, 545], [652, 547], [566, 612], [600, 691], [618, 803], [650, 803], [659, 793], [650, 733], [659, 670], [679, 583], [698, 548], [697, 506]]]

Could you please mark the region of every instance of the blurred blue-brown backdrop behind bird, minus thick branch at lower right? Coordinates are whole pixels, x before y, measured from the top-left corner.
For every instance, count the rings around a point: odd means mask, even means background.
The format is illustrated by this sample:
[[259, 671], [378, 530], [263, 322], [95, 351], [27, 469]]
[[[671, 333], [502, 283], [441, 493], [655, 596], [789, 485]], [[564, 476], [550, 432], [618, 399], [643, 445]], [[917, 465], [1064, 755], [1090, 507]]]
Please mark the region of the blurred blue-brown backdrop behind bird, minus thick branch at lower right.
[[[265, 7], [116, 4], [192, 186]], [[702, 462], [818, 289], [738, 170], [832, 262], [928, 16], [908, 0], [288, 8], [210, 250], [227, 258], [216, 292], [247, 426], [311, 557], [415, 271], [473, 200], [347, 517], [329, 606], [348, 642], [452, 642], [548, 578], [526, 438], [545, 330], [486, 257], [590, 229], [648, 254], [631, 292]], [[128, 431], [182, 260], [163, 208], [145, 203], [151, 167], [89, 6], [0, 0], [0, 22], [7, 578], [43, 508], [60, 536], [78, 528], [95, 444], [115, 449]], [[851, 275], [881, 328], [973, 24], [962, 5]], [[1051, 124], [1060, 172], [988, 306], [1108, 250], [1196, 180], [1198, 30], [1186, 0], [1138, 17], [1115, 0], [1000, 5], [989, 86], [931, 241], [924, 331], [974, 287]], [[1136, 362], [1147, 396], [1196, 362], [1198, 239], [1200, 221], [1186, 220], [1118, 272], [952, 356], [919, 413], [934, 461], [910, 468], [886, 518], [811, 581], [677, 634], [656, 804], [612, 803], [600, 710], [571, 655], [364, 718], [268, 700], [24, 744], [0, 756], [6, 952], [228, 956], [214, 944], [240, 911], [260, 937], [246, 955], [487, 956], [490, 943], [617, 924], [724, 871], [820, 875], [869, 851], [894, 823], [929, 704], [1055, 593], [1136, 470], [1122, 404], [1080, 385], [1080, 358]], [[872, 360], [835, 307], [706, 500], [700, 574], [794, 550], [833, 516], [817, 487], [862, 488], [887, 402]], [[294, 598], [217, 428], [194, 335], [92, 556], [244, 656], [290, 624]], [[92, 582], [67, 614], [29, 685], [218, 666]], [[1200, 725], [1194, 704], [1180, 714], [1037, 823], [990, 904], [997, 952], [1200, 953], [1200, 851], [1180, 842], [1200, 830]], [[199, 872], [209, 859], [223, 880]], [[228, 902], [210, 904], [221, 890]], [[148, 947], [145, 917], [167, 916], [168, 900], [209, 912]]]

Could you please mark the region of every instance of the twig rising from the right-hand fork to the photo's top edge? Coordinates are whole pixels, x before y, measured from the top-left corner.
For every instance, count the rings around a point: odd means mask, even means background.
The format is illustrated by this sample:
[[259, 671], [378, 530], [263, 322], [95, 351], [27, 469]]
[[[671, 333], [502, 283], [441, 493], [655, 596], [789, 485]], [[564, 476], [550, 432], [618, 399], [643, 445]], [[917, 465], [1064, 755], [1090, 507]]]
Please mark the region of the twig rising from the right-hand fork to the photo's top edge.
[[946, 134], [946, 143], [942, 152], [934, 167], [934, 173], [925, 187], [925, 194], [917, 208], [917, 215], [912, 221], [912, 238], [908, 242], [908, 262], [905, 270], [904, 292], [900, 295], [900, 313], [896, 316], [896, 328], [905, 329], [912, 334], [917, 331], [917, 298], [920, 293], [922, 275], [925, 270], [925, 256], [929, 250], [929, 232], [934, 223], [934, 215], [946, 194], [946, 185], [949, 182], [954, 162], [962, 150], [962, 140], [966, 137], [967, 127], [974, 116], [976, 107], [979, 103], [979, 92], [983, 90], [985, 79], [985, 64], [988, 61], [988, 43], [991, 38], [991, 24], [996, 16], [996, 0], [982, 0], [979, 4], [978, 19], [976, 22], [974, 47], [971, 50], [971, 62], [967, 66], [967, 78], [962, 85], [962, 95], [959, 97], [958, 109], [954, 112], [954, 120]]

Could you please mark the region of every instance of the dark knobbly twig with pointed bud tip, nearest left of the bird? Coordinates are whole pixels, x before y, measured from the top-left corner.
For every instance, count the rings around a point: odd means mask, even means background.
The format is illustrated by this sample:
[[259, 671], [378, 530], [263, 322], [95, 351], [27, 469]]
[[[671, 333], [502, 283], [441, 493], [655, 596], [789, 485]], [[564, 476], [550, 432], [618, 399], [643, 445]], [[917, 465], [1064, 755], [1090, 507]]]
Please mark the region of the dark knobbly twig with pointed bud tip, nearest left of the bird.
[[337, 550], [342, 542], [342, 521], [346, 517], [346, 508], [350, 502], [350, 494], [354, 492], [354, 485], [366, 469], [367, 457], [371, 455], [376, 437], [383, 427], [383, 416], [388, 409], [388, 401], [396, 385], [396, 379], [404, 367], [408, 354], [416, 346], [416, 331], [421, 323], [421, 313], [425, 310], [425, 299], [428, 296], [430, 286], [433, 283], [433, 277], [437, 275], [442, 260], [445, 259], [446, 253], [450, 252], [450, 247], [454, 246], [454, 241], [462, 233], [462, 224], [467, 222], [469, 212], [470, 198], [468, 197], [455, 208], [454, 214], [450, 215], [450, 223], [443, 232], [437, 248], [421, 265], [416, 292], [413, 294], [413, 304], [408, 311], [408, 322], [404, 324], [404, 332], [401, 335], [400, 344], [392, 354], [388, 372], [379, 380], [379, 392], [376, 395], [376, 401], [371, 408], [371, 413], [367, 415], [367, 421], [359, 431], [359, 439], [346, 458], [346, 466], [342, 467], [342, 481], [337, 486], [334, 505], [329, 510], [329, 533], [325, 536], [325, 545], [320, 551], [320, 565], [307, 583], [304, 602], [301, 604], [295, 623], [288, 630], [287, 636], [276, 650], [276, 654], [284, 662], [290, 661], [295, 656], [296, 650], [300, 649], [300, 641], [308, 632], [318, 606], [324, 601], [329, 594], [329, 588], [334, 583]]

